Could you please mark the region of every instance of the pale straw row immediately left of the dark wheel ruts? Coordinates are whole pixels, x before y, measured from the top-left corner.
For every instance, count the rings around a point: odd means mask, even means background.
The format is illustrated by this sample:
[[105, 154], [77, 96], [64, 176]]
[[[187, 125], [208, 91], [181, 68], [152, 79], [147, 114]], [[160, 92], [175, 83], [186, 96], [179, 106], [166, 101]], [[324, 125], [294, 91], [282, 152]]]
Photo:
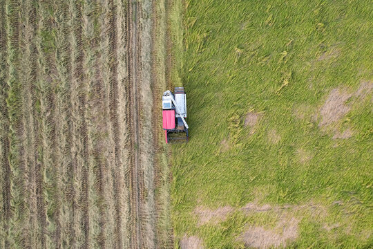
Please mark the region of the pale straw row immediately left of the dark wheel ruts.
[[110, 0], [108, 8], [111, 12], [109, 19], [109, 47], [111, 48], [111, 77], [110, 77], [110, 105], [111, 105], [111, 124], [114, 142], [114, 162], [113, 167], [114, 185], [115, 185], [115, 234], [116, 247], [126, 248], [128, 246], [128, 235], [126, 231], [128, 219], [128, 186], [126, 181], [128, 174], [128, 120], [125, 118], [126, 113], [126, 89], [125, 80], [127, 77], [126, 55], [128, 50], [126, 44], [126, 12], [128, 6], [123, 1]]

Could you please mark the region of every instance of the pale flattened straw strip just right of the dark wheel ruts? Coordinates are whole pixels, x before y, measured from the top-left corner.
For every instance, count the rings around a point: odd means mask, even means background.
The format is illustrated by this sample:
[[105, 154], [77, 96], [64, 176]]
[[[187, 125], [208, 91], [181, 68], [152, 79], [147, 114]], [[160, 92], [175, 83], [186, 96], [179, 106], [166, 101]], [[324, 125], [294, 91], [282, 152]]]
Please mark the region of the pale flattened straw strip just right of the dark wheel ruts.
[[[139, 6], [141, 17], [139, 28], [140, 61], [140, 162], [142, 176], [142, 244], [144, 248], [155, 248], [155, 201], [154, 201], [154, 133], [153, 133], [153, 98], [154, 88], [151, 78], [151, 51], [153, 28], [151, 14], [152, 1], [144, 0]], [[155, 97], [156, 98], [156, 97]]]

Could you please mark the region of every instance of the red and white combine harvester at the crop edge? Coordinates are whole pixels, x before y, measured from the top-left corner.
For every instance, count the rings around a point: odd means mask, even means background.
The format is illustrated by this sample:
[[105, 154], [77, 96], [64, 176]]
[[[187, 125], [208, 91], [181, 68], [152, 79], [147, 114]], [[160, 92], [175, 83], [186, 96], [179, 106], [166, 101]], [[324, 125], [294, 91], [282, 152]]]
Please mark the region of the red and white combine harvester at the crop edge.
[[[162, 116], [166, 143], [171, 140], [189, 141], [189, 127], [185, 121], [187, 118], [187, 94], [184, 92], [184, 87], [175, 87], [175, 94], [169, 90], [163, 93]], [[185, 136], [172, 136], [172, 133], [185, 133]]]

